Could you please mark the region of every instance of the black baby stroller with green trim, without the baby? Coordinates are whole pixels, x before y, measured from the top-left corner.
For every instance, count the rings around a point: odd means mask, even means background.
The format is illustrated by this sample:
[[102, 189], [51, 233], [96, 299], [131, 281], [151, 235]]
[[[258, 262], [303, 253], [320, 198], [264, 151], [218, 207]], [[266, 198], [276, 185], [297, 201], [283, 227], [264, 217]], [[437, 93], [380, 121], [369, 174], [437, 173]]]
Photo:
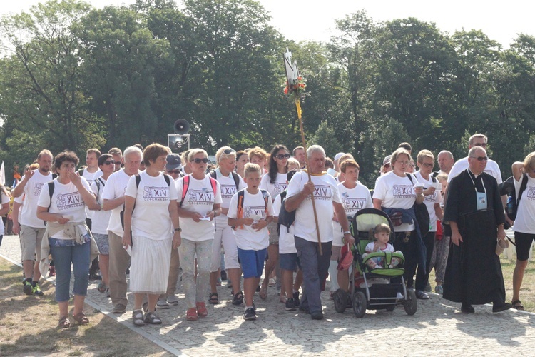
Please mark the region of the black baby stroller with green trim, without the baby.
[[[335, 310], [338, 313], [343, 313], [347, 306], [352, 306], [355, 316], [362, 318], [366, 309], [393, 311], [399, 304], [403, 305], [407, 315], [416, 313], [416, 294], [413, 290], [406, 288], [403, 278], [403, 255], [379, 251], [369, 253], [365, 258], [362, 258], [367, 244], [374, 241], [373, 229], [380, 223], [390, 226], [392, 233], [390, 233], [389, 243], [392, 243], [395, 236], [394, 226], [389, 216], [383, 211], [376, 208], [365, 208], [355, 213], [352, 219], [350, 229], [353, 238], [355, 238], [355, 246], [352, 251], [351, 288], [349, 295], [343, 289], [335, 291]], [[370, 268], [366, 262], [372, 258], [382, 258], [384, 266]], [[392, 258], [399, 258], [401, 261], [394, 268], [390, 265]], [[393, 283], [392, 280], [398, 282]]]

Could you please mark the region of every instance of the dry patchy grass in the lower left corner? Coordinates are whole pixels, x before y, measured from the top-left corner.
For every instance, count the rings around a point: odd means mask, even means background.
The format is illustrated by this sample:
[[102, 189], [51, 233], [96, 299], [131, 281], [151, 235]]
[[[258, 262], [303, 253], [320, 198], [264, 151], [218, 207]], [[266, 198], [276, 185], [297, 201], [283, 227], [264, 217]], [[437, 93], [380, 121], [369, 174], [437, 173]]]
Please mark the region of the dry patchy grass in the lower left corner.
[[43, 283], [41, 298], [24, 295], [21, 268], [3, 258], [0, 277], [0, 356], [170, 356], [88, 305], [88, 326], [58, 328], [51, 283]]

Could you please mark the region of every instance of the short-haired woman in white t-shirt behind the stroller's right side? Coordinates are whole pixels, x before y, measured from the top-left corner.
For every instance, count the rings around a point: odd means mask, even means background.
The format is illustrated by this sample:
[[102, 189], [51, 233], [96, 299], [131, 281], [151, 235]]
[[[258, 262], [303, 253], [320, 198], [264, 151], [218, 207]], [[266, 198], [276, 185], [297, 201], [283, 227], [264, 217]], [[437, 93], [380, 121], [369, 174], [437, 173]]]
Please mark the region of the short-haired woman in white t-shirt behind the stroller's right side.
[[[417, 186], [417, 178], [411, 175], [412, 180], [407, 176], [407, 169], [411, 161], [409, 151], [397, 149], [392, 153], [390, 160], [392, 171], [377, 178], [373, 193], [373, 206], [377, 209], [398, 208], [402, 210], [412, 210], [414, 203], [422, 203], [425, 199], [422, 186]], [[414, 273], [419, 263], [419, 244], [421, 244], [414, 222], [402, 223], [393, 221], [396, 238], [394, 249], [402, 251], [405, 258], [404, 278], [408, 288], [412, 288]], [[423, 291], [422, 294], [425, 294]], [[422, 298], [420, 294], [418, 298]], [[425, 294], [427, 295], [427, 294]], [[429, 298], [429, 296], [427, 297]]]

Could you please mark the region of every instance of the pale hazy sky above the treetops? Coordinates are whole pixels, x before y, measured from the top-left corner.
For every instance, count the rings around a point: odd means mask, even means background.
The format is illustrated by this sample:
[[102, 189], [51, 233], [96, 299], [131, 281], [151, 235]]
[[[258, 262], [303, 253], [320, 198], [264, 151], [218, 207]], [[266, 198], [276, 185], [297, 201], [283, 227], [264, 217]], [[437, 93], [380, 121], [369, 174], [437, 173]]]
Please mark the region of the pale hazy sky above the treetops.
[[[39, 0], [2, 1], [0, 14], [28, 10]], [[136, 0], [86, 0], [96, 7], [133, 4]], [[508, 48], [517, 34], [535, 36], [535, 1], [509, 0], [505, 3], [478, 0], [260, 0], [270, 12], [270, 24], [287, 39], [328, 41], [334, 34], [335, 19], [364, 9], [374, 21], [415, 17], [434, 22], [440, 31], [481, 29], [490, 39]]]

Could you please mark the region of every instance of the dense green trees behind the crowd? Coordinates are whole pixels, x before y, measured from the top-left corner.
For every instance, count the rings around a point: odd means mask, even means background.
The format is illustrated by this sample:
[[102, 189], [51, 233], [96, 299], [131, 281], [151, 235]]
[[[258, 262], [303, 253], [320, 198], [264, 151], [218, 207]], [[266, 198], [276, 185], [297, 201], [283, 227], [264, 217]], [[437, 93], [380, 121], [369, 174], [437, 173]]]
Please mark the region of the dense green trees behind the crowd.
[[[176, 119], [208, 152], [300, 145], [282, 94], [288, 47], [307, 79], [308, 144], [351, 152], [373, 185], [399, 142], [466, 156], [481, 132], [503, 176], [534, 150], [535, 37], [509, 49], [477, 30], [418, 19], [336, 21], [328, 43], [296, 44], [253, 0], [138, 0], [94, 9], [53, 0], [0, 22], [0, 157], [13, 164], [88, 147], [166, 144]], [[8, 177], [8, 183], [10, 179]]]

